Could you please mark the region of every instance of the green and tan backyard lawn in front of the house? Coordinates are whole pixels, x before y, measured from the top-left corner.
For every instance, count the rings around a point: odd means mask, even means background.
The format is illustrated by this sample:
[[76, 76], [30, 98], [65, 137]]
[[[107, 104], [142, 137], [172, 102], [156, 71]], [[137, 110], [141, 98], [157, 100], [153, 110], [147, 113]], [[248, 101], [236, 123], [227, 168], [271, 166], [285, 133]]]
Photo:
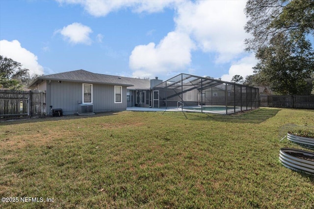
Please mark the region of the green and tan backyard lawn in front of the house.
[[[314, 111], [119, 112], [0, 123], [0, 208], [313, 208], [314, 177], [279, 162]], [[305, 149], [305, 148], [302, 148]]]

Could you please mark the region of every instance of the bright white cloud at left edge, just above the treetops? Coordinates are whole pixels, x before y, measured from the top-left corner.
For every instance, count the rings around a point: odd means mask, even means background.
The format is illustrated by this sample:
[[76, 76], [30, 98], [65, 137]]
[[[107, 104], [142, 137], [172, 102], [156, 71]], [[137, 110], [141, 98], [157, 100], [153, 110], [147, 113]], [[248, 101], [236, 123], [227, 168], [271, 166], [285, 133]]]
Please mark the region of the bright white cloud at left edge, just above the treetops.
[[0, 54], [19, 62], [23, 68], [29, 69], [29, 74], [43, 74], [44, 69], [37, 62], [37, 56], [23, 48], [18, 40], [0, 41]]

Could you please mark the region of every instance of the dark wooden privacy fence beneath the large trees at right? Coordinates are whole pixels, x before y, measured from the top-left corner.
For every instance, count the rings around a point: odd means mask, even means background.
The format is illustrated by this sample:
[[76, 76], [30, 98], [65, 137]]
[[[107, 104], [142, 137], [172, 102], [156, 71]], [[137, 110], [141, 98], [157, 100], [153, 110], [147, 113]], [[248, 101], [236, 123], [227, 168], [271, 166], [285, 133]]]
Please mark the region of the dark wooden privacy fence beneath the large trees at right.
[[260, 107], [279, 107], [314, 110], [314, 95], [260, 95]]

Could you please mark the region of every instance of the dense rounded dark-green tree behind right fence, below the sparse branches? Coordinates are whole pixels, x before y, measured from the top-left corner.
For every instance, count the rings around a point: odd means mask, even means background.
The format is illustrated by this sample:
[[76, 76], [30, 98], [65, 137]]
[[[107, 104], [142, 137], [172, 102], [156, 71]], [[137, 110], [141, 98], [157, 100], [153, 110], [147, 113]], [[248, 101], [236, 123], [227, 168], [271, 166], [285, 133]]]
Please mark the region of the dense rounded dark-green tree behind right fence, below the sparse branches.
[[309, 44], [300, 40], [296, 44], [279, 34], [269, 46], [259, 48], [256, 53], [258, 64], [253, 68], [261, 82], [280, 94], [309, 94], [306, 80], [314, 69], [313, 52]]

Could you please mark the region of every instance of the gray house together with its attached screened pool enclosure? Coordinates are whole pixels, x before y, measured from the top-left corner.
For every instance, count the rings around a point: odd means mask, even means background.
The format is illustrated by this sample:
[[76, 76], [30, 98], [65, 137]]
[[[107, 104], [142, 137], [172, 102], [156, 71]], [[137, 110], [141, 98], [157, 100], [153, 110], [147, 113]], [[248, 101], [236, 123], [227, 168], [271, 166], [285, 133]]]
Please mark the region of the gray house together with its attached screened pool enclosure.
[[[181, 73], [166, 81], [75, 70], [36, 78], [30, 89], [46, 91], [46, 113], [86, 115], [127, 107], [222, 106], [226, 114], [259, 107], [259, 89]], [[230, 109], [231, 108], [231, 109]], [[230, 109], [230, 110], [229, 110]]]

